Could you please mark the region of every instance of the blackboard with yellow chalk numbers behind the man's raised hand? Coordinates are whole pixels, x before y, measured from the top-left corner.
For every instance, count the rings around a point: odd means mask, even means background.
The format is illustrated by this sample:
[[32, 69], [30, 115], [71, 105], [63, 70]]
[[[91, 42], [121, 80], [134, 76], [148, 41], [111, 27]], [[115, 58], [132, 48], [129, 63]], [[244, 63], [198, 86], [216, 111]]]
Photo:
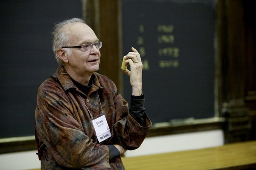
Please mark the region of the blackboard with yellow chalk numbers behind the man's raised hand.
[[123, 55], [140, 52], [153, 123], [214, 116], [214, 20], [215, 0], [122, 0]]

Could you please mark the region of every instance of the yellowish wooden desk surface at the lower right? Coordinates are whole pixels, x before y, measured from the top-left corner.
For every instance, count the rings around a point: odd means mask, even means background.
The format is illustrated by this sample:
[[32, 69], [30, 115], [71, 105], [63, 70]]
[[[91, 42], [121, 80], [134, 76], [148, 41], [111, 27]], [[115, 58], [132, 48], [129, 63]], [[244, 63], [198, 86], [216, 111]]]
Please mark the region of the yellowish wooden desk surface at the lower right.
[[256, 169], [256, 141], [200, 150], [124, 157], [122, 161], [126, 170], [252, 170]]

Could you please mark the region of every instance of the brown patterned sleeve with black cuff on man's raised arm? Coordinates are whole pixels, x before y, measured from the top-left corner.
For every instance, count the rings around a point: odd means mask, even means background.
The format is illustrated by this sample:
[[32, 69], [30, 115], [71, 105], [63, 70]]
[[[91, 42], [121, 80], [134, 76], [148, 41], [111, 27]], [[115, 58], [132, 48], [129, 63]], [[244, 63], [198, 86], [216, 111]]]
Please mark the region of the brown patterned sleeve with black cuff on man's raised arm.
[[130, 107], [128, 107], [128, 102], [120, 94], [116, 95], [114, 100], [116, 120], [113, 128], [116, 134], [116, 144], [126, 150], [137, 149], [142, 144], [152, 125], [145, 112], [145, 99], [131, 97]]

